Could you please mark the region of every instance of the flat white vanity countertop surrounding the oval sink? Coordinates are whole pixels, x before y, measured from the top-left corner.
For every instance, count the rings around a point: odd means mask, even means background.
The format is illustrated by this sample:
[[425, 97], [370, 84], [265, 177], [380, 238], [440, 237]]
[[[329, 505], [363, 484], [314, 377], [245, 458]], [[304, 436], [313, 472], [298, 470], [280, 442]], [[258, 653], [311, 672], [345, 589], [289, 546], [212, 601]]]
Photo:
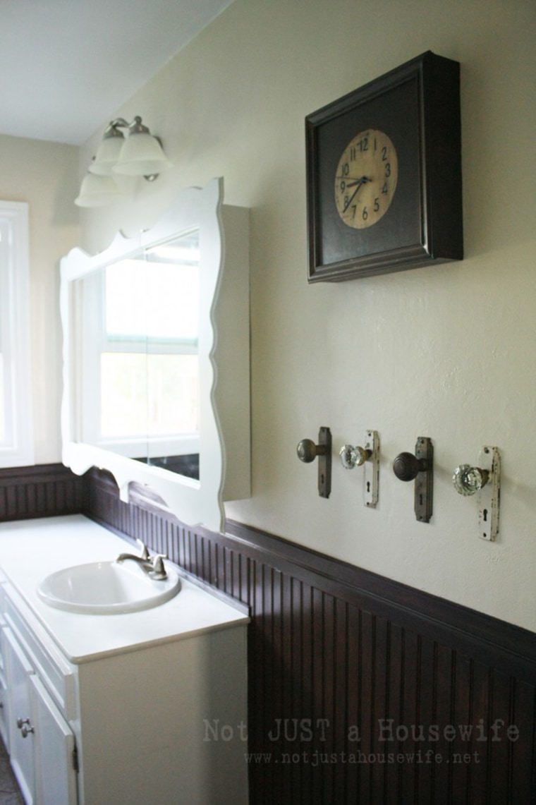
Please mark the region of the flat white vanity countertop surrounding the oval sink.
[[2, 572], [72, 663], [249, 622], [241, 605], [200, 588], [182, 576], [180, 568], [178, 595], [154, 609], [135, 613], [64, 612], [48, 606], [35, 592], [52, 572], [110, 561], [124, 551], [133, 552], [132, 544], [81, 514], [0, 523]]

